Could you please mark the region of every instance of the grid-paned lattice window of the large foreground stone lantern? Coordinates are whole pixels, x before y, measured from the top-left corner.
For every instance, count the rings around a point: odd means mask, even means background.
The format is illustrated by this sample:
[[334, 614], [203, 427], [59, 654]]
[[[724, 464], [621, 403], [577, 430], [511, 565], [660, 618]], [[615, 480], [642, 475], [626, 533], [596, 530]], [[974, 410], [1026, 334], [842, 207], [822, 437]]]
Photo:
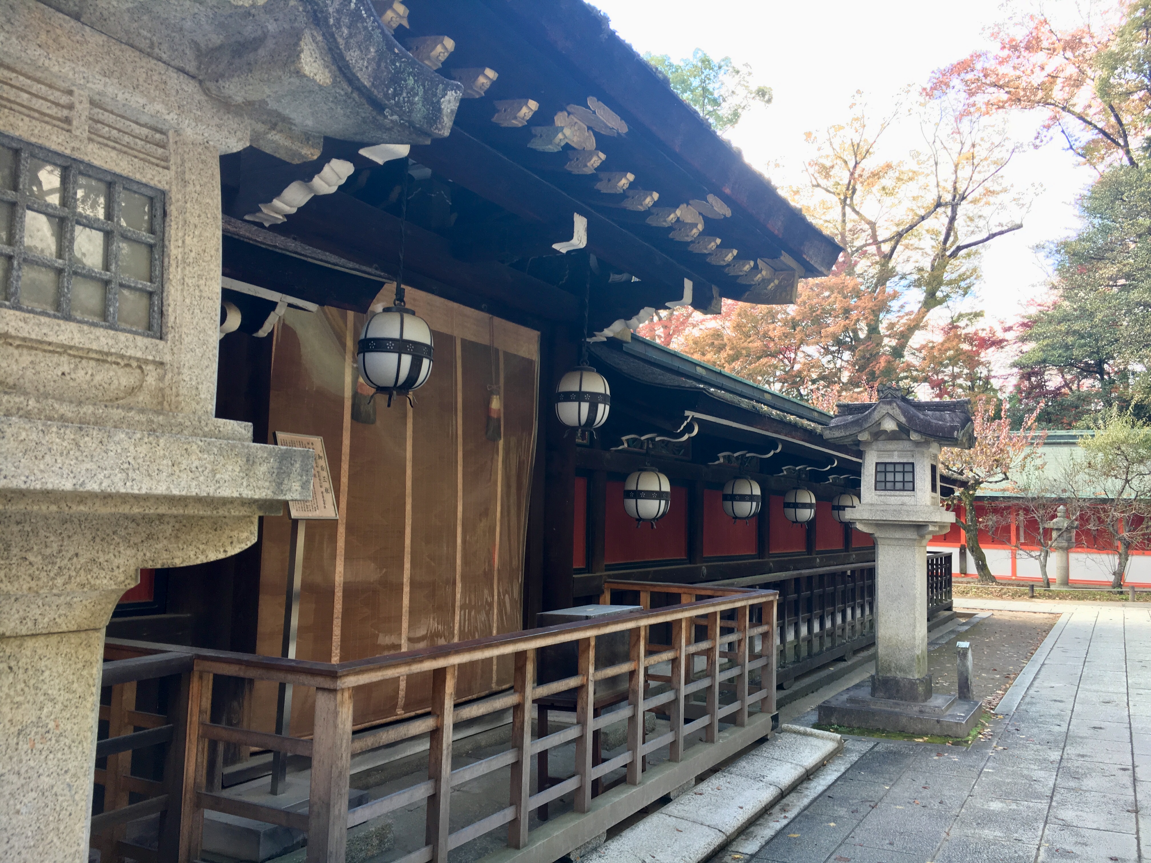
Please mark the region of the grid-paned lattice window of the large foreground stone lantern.
[[160, 337], [163, 192], [0, 135], [0, 304]]

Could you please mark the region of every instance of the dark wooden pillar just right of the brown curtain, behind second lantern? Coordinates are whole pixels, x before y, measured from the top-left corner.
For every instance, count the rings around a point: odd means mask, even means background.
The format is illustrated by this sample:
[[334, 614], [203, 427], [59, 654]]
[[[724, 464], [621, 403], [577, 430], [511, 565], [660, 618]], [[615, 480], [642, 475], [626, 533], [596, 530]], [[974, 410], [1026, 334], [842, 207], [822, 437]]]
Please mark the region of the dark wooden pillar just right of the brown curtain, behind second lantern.
[[[576, 433], [556, 418], [551, 403], [559, 379], [579, 361], [579, 337], [569, 328], [557, 327], [552, 339], [551, 368], [540, 375], [548, 381], [540, 394], [547, 399], [547, 448], [543, 489], [543, 568], [541, 604], [543, 611], [571, 608], [572, 526], [576, 521]], [[566, 433], [566, 434], [565, 434]]]

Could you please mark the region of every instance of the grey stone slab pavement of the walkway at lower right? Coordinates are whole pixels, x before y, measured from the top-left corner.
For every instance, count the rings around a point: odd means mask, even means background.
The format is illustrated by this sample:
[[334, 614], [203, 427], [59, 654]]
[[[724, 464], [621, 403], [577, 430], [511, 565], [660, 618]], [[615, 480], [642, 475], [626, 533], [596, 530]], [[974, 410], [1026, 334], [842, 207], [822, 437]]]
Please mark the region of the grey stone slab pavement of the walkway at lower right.
[[1151, 861], [1151, 611], [1058, 606], [989, 740], [879, 741], [753, 860]]

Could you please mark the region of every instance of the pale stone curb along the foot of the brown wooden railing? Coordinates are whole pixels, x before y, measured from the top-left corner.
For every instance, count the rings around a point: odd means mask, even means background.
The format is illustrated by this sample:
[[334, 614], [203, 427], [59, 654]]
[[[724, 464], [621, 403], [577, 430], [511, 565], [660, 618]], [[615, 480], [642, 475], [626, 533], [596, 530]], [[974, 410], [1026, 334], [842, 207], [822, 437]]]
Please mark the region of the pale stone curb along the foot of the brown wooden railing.
[[701, 863], [843, 748], [838, 734], [784, 725], [773, 740], [582, 855], [581, 863]]

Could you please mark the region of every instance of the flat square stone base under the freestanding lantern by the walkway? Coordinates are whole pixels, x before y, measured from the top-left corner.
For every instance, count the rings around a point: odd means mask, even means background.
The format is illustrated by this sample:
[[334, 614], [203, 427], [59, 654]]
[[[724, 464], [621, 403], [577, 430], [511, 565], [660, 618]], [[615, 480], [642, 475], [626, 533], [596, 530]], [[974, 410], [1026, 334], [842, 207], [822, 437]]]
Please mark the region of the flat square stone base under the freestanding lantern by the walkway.
[[820, 705], [820, 724], [966, 738], [980, 720], [983, 705], [977, 701], [942, 694], [918, 702], [877, 698], [871, 686], [864, 680], [828, 698]]

